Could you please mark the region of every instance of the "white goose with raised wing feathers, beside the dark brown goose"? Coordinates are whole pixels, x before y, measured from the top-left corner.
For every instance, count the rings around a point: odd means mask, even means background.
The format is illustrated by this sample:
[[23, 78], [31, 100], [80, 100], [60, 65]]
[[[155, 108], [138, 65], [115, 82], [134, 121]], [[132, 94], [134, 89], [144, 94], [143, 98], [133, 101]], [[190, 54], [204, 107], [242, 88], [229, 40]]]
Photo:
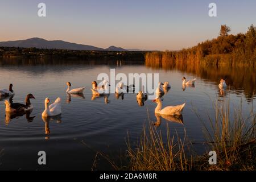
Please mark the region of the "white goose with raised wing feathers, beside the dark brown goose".
[[49, 105], [49, 98], [46, 98], [44, 101], [44, 105], [46, 109], [44, 109], [42, 113], [42, 117], [53, 117], [55, 115], [61, 114], [61, 99], [58, 97], [55, 102]]

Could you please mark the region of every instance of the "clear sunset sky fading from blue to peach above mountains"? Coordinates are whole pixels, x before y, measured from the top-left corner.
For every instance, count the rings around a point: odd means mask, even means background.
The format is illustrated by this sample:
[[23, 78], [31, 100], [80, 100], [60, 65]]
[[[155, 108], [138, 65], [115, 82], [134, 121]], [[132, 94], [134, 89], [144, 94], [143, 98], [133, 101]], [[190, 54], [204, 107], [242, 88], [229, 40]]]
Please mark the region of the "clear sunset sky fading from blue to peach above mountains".
[[[38, 3], [46, 3], [46, 17]], [[217, 4], [217, 17], [208, 15]], [[176, 50], [218, 35], [221, 24], [232, 34], [256, 25], [256, 1], [1, 0], [0, 41], [28, 38], [65, 40], [106, 48]]]

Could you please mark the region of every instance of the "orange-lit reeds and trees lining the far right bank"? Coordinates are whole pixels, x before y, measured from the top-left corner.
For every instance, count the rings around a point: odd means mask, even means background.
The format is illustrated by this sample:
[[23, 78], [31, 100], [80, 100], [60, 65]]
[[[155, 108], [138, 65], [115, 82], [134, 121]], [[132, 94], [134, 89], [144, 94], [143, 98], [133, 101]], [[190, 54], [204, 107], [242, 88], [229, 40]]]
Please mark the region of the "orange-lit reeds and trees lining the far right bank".
[[187, 64], [256, 66], [256, 27], [252, 24], [245, 34], [230, 34], [230, 28], [221, 26], [220, 35], [197, 46], [180, 51], [147, 52], [146, 65], [171, 67]]

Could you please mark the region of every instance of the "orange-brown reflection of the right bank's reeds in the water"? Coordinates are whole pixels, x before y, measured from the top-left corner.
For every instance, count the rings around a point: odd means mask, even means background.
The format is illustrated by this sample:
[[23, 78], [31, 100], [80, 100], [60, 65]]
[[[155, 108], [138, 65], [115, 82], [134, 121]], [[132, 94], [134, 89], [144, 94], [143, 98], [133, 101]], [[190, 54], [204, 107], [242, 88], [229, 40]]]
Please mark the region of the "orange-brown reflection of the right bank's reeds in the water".
[[[224, 78], [229, 85], [232, 85], [232, 91], [238, 95], [244, 93], [248, 102], [253, 101], [256, 97], [256, 72], [255, 68], [246, 67], [229, 67], [227, 65], [219, 67], [217, 65], [200, 65], [200, 64], [173, 64], [159, 61], [146, 61], [146, 67], [153, 69], [179, 70], [181, 72], [192, 73], [193, 75], [205, 79], [204, 81], [214, 82], [218, 86], [220, 78]], [[185, 91], [185, 87], [182, 88]], [[231, 88], [230, 88], [231, 90]], [[225, 90], [224, 90], [225, 93]]]

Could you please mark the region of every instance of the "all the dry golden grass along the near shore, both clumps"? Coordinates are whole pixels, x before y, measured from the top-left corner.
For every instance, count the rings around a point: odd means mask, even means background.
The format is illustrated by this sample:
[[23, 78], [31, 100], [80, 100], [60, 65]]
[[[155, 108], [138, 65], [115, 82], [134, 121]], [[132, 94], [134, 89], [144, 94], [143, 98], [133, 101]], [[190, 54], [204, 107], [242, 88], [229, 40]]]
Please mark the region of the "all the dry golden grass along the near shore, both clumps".
[[[200, 115], [195, 111], [197, 116]], [[256, 116], [242, 115], [242, 106], [230, 114], [229, 101], [214, 104], [214, 114], [209, 121], [201, 119], [205, 131], [204, 155], [191, 149], [187, 137], [171, 135], [167, 127], [167, 139], [150, 124], [143, 128], [138, 143], [127, 141], [128, 166], [133, 171], [189, 171], [189, 170], [255, 170], [256, 169]], [[210, 123], [210, 126], [206, 123]], [[210, 165], [208, 152], [216, 151], [217, 164]], [[121, 169], [121, 168], [119, 168]]]

